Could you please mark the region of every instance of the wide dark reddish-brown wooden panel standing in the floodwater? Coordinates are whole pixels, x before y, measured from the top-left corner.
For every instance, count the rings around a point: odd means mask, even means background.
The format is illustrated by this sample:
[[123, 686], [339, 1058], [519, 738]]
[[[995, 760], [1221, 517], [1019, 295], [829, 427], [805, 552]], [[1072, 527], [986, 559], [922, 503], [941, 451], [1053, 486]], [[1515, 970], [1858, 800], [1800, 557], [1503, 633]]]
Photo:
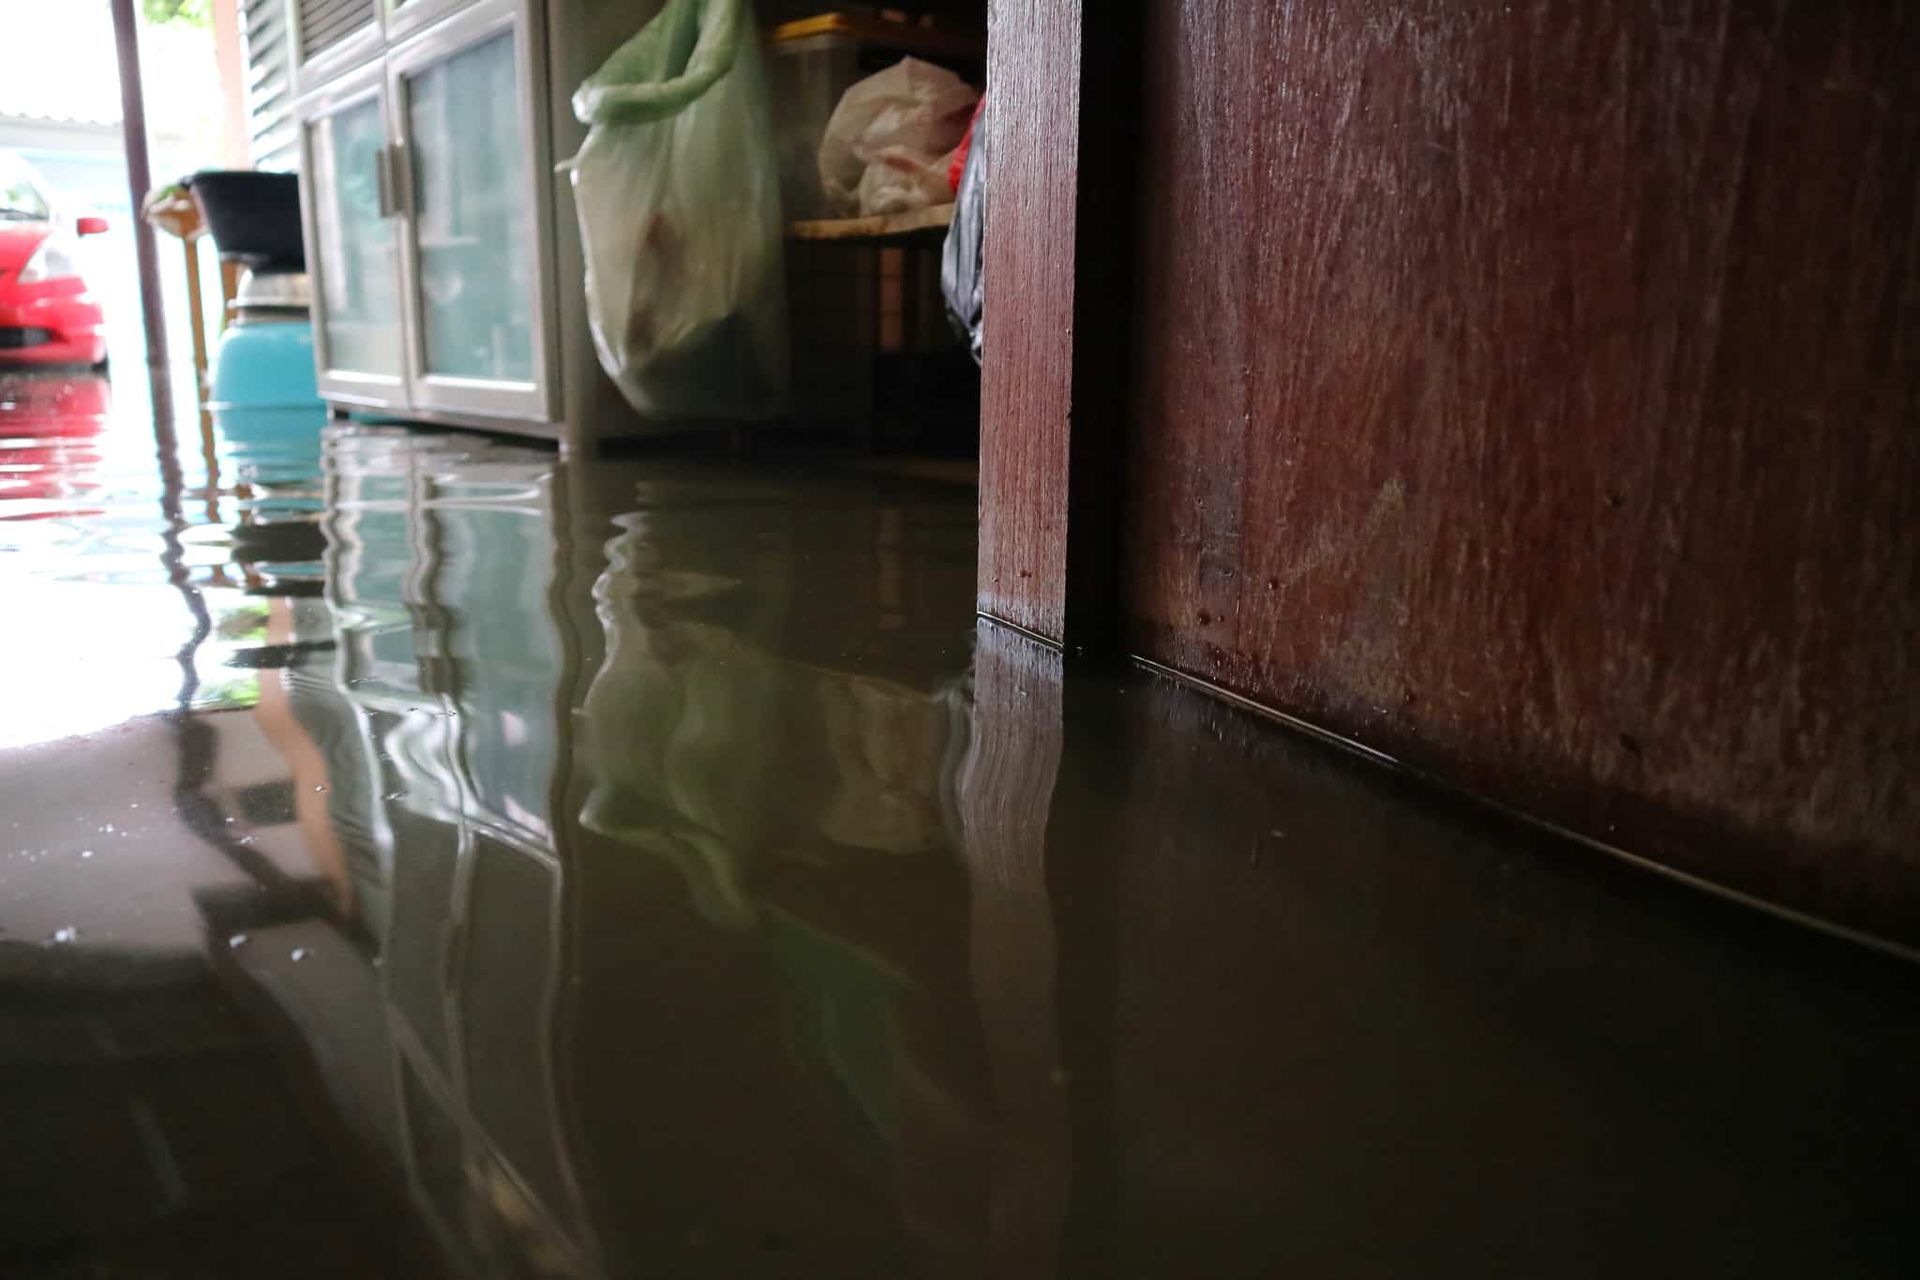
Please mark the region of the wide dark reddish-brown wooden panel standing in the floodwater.
[[1920, 940], [1920, 8], [1148, 12], [1135, 649]]

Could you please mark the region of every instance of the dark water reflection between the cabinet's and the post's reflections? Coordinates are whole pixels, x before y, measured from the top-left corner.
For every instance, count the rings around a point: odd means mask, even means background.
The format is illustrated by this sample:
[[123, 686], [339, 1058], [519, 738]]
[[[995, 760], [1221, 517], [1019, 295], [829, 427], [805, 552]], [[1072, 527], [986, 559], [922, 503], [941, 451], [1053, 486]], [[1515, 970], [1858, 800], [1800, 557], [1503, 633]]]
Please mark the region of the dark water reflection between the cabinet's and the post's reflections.
[[973, 495], [630, 484], [576, 783], [576, 1098], [622, 1207], [605, 1257], [977, 1272], [993, 1123], [952, 787]]

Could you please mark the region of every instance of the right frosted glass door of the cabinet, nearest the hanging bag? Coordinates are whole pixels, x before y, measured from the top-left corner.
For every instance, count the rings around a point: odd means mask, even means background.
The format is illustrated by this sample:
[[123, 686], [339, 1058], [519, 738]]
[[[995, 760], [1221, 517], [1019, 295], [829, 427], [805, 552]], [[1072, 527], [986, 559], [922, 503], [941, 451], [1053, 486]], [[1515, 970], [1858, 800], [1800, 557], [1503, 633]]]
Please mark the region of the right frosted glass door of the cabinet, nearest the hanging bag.
[[518, 6], [438, 23], [397, 59], [409, 159], [415, 395], [528, 413], [541, 399], [541, 280]]

